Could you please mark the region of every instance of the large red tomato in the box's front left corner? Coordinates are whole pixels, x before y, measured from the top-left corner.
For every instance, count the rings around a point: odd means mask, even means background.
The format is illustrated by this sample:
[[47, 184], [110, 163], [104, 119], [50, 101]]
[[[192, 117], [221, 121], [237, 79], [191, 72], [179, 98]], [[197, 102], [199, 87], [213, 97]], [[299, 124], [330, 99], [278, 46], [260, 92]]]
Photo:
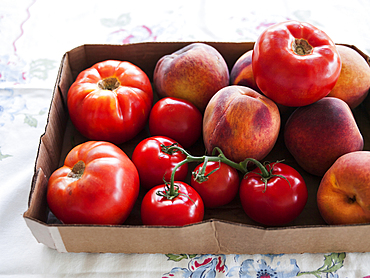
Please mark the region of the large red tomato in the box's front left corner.
[[135, 165], [117, 146], [88, 141], [73, 148], [49, 178], [47, 202], [65, 224], [122, 224], [139, 194]]

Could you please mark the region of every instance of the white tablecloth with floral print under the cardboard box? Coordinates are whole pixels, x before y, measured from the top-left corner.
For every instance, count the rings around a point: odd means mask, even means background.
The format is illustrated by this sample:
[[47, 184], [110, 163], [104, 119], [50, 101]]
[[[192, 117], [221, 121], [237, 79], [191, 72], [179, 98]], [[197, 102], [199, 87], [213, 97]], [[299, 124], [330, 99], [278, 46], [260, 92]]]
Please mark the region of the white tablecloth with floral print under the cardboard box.
[[[61, 254], [22, 217], [62, 55], [88, 43], [255, 41], [297, 19], [370, 55], [370, 2], [0, 2], [1, 277], [370, 277], [370, 253], [280, 255]], [[370, 236], [370, 235], [369, 235]]]

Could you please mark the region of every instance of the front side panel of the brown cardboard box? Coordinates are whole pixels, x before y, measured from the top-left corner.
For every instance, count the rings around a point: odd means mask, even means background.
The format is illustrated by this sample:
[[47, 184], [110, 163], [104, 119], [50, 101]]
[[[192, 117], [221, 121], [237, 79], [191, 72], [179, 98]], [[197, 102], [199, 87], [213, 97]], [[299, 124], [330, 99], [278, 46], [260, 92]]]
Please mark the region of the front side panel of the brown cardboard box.
[[[46, 225], [27, 217], [26, 223], [40, 243], [62, 253], [158, 253], [158, 246], [161, 246], [160, 253], [174, 254], [291, 254], [370, 250], [369, 241], [354, 240], [368, 237], [368, 225], [265, 229], [209, 220], [181, 228], [145, 227], [143, 233], [143, 227], [138, 226], [76, 225], [67, 228], [62, 225]], [[153, 229], [162, 236], [153, 238]], [[214, 235], [212, 239], [209, 237], [211, 233]], [[92, 234], [94, 235], [91, 236]], [[184, 238], [184, 234], [186, 238], [196, 238], [195, 241], [202, 244], [174, 244], [177, 238]], [[122, 240], [122, 237], [125, 239]], [[84, 238], [85, 241], [76, 242], [75, 238]], [[299, 243], [299, 246], [292, 245], [293, 242]], [[84, 248], [81, 249], [81, 246]]]

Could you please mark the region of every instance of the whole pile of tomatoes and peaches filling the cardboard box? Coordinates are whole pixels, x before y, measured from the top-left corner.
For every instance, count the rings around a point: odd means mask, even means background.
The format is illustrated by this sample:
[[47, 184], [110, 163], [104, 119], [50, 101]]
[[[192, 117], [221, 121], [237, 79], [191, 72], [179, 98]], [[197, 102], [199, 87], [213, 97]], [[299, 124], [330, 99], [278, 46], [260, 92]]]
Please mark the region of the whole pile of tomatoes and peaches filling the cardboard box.
[[[370, 67], [352, 48], [287, 21], [267, 28], [230, 71], [214, 47], [191, 43], [160, 58], [152, 80], [107, 60], [70, 87], [71, 121], [88, 140], [49, 178], [48, 206], [62, 223], [120, 225], [139, 201], [144, 225], [183, 226], [240, 198], [257, 223], [288, 224], [308, 193], [284, 157], [264, 162], [279, 134], [301, 171], [321, 178], [317, 204], [328, 224], [370, 222], [370, 152], [352, 113], [369, 92]], [[145, 127], [150, 136], [129, 157], [120, 146]], [[195, 156], [189, 148], [199, 142], [205, 154]]]

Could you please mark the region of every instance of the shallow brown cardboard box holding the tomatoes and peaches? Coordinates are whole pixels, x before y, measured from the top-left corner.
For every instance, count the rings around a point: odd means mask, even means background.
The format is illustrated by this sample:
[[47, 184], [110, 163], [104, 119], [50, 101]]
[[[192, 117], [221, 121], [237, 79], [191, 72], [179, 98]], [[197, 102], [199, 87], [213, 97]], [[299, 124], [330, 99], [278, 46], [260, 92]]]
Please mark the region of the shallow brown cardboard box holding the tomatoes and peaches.
[[[302, 214], [284, 227], [263, 227], [250, 220], [236, 198], [231, 204], [218, 209], [207, 209], [204, 221], [185, 227], [147, 227], [140, 223], [140, 193], [136, 205], [121, 226], [63, 225], [55, 221], [46, 202], [46, 186], [51, 173], [63, 164], [64, 158], [83, 138], [71, 124], [66, 105], [67, 92], [78, 73], [93, 64], [118, 59], [130, 61], [152, 78], [156, 62], [190, 42], [137, 43], [128, 45], [83, 45], [67, 52], [61, 61], [45, 133], [40, 139], [35, 162], [34, 177], [29, 196], [29, 208], [24, 219], [38, 242], [59, 252], [109, 252], [109, 253], [188, 253], [188, 254], [278, 254], [316, 252], [368, 252], [370, 251], [370, 224], [329, 226], [321, 218], [316, 191], [318, 177], [303, 174], [285, 149], [281, 136], [275, 148], [266, 158], [285, 159], [285, 163], [297, 168], [304, 176], [308, 191], [308, 203]], [[252, 42], [215, 43], [231, 70], [235, 61]], [[364, 59], [369, 57], [358, 50]], [[366, 107], [369, 98], [354, 110], [354, 115], [365, 138], [365, 149], [370, 150], [370, 119]], [[286, 120], [288, 114], [282, 115]], [[135, 145], [148, 136], [143, 130], [134, 140], [123, 144], [122, 149], [130, 156]], [[190, 149], [198, 155], [202, 143]]]

